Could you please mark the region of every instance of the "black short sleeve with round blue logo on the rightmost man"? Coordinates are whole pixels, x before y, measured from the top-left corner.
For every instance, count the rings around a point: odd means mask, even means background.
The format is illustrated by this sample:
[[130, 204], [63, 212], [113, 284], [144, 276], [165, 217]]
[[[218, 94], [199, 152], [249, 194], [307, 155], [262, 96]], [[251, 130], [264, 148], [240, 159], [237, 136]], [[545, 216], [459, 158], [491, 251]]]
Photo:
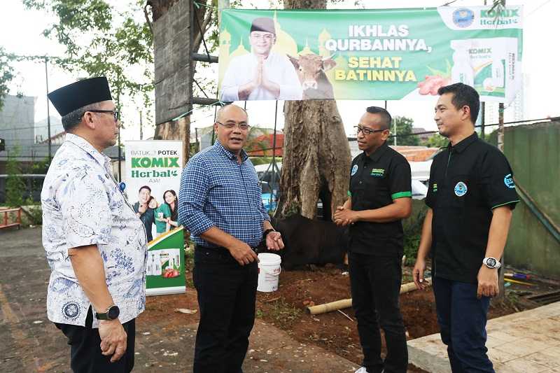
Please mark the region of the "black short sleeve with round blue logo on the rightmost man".
[[515, 190], [513, 171], [505, 155], [499, 150], [489, 152], [481, 169], [482, 194], [486, 206], [496, 209], [508, 205], [514, 209], [519, 202], [519, 195]]

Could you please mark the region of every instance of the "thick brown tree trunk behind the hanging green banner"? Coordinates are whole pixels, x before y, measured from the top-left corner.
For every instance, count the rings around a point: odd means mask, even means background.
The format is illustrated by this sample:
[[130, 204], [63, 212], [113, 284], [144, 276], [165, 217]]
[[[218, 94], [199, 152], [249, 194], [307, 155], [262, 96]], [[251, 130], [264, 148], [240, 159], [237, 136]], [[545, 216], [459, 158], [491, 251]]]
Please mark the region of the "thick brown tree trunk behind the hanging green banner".
[[[326, 0], [284, 0], [284, 8], [326, 8]], [[281, 196], [276, 218], [301, 213], [315, 218], [323, 202], [323, 219], [332, 220], [346, 200], [350, 147], [336, 101], [286, 101]]]

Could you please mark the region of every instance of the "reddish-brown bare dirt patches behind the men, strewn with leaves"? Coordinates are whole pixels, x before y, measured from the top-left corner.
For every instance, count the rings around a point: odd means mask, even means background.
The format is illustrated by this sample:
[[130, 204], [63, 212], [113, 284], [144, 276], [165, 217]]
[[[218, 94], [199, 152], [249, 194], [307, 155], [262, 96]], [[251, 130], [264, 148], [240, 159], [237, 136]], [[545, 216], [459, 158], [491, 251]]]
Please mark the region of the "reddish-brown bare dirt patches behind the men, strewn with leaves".
[[[187, 296], [169, 295], [148, 297], [146, 311], [140, 322], [150, 323], [151, 318], [168, 315], [169, 309], [186, 308], [196, 310], [196, 291], [193, 290], [192, 262], [187, 262]], [[405, 267], [403, 283], [411, 281], [412, 267]], [[307, 305], [323, 304], [350, 298], [349, 276], [337, 267], [329, 266], [308, 270], [283, 271], [280, 275], [279, 290], [274, 293], [258, 293], [257, 318], [284, 330], [301, 343], [314, 344], [360, 364], [363, 356], [360, 349], [356, 319], [351, 308], [327, 314], [311, 316]], [[521, 289], [521, 290], [519, 290]], [[538, 307], [515, 295], [526, 287], [510, 286], [505, 302], [492, 304], [489, 318], [512, 314], [524, 309]], [[533, 291], [536, 288], [531, 289]], [[540, 289], [547, 290], [547, 289]], [[405, 321], [407, 338], [414, 339], [437, 333], [435, 302], [431, 288], [412, 291], [400, 296], [400, 307]], [[189, 321], [198, 321], [197, 314], [189, 315]], [[169, 318], [169, 326], [179, 328], [183, 318]], [[424, 372], [412, 365], [409, 372]]]

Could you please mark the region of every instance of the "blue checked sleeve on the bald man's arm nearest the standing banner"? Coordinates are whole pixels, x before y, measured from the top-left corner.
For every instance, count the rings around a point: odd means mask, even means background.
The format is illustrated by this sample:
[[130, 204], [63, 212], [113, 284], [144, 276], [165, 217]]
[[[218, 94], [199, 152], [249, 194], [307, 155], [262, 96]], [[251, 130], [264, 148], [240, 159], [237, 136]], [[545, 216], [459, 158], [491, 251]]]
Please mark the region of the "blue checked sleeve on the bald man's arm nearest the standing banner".
[[193, 157], [188, 162], [181, 176], [179, 189], [179, 223], [191, 234], [200, 236], [214, 223], [204, 213], [204, 202], [210, 188], [207, 173], [200, 157]]

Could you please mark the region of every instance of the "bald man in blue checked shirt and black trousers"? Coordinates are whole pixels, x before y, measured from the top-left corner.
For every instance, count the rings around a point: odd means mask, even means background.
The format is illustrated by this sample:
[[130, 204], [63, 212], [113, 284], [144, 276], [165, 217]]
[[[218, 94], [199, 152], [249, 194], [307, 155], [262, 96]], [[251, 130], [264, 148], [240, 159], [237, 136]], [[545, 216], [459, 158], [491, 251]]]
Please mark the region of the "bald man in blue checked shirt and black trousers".
[[193, 280], [200, 323], [193, 371], [239, 373], [255, 321], [258, 257], [284, 247], [262, 206], [255, 167], [243, 150], [247, 113], [235, 105], [218, 111], [218, 141], [187, 164], [179, 191], [179, 221], [195, 241]]

